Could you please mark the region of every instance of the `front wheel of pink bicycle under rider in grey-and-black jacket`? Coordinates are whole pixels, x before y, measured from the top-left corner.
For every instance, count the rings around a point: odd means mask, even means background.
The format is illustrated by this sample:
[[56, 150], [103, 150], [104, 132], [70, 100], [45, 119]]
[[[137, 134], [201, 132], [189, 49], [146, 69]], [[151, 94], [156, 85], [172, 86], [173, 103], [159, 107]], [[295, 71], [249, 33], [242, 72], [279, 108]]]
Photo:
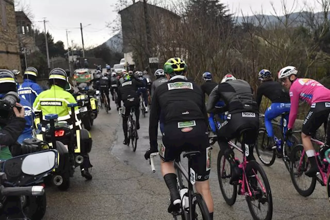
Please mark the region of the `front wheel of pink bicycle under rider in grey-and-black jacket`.
[[[229, 166], [229, 170], [225, 170], [225, 166]], [[223, 152], [220, 150], [218, 153], [218, 160], [217, 160], [217, 171], [218, 171], [218, 181], [220, 190], [223, 196], [223, 199], [226, 201], [228, 205], [233, 205], [236, 202], [237, 197], [237, 185], [231, 185], [229, 183], [230, 180], [230, 165], [229, 161], [225, 159]], [[231, 191], [232, 188], [232, 192]], [[225, 190], [229, 189], [229, 192]]]

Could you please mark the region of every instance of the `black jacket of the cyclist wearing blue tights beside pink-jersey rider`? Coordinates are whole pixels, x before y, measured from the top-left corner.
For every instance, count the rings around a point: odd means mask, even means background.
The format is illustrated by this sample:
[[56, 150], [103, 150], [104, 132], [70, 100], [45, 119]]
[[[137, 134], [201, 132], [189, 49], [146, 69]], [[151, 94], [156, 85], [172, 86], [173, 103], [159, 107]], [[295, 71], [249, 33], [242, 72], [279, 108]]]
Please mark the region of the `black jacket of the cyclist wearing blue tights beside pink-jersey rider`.
[[290, 102], [289, 92], [276, 81], [263, 82], [257, 89], [256, 102], [260, 106], [262, 96], [266, 96], [272, 102]]

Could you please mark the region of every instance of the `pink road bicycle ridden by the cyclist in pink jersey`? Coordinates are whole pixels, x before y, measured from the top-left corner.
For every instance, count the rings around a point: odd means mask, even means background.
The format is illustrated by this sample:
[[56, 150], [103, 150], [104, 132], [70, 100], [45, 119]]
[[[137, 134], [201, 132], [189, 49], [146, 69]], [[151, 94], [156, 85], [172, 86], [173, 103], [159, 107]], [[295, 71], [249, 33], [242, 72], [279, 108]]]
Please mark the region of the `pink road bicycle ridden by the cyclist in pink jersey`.
[[[311, 141], [319, 146], [324, 145], [324, 142], [319, 141], [315, 138], [311, 137]], [[292, 163], [291, 163], [291, 180], [293, 183], [294, 188], [297, 190], [297, 192], [302, 196], [310, 196], [315, 189], [316, 180], [322, 185], [327, 186], [328, 189], [328, 198], [330, 197], [329, 193], [329, 178], [330, 178], [330, 158], [329, 158], [329, 151], [327, 150], [326, 153], [324, 153], [324, 159], [321, 160], [320, 153], [317, 151], [315, 152], [316, 156], [316, 164], [318, 167], [319, 172], [313, 177], [309, 177], [305, 175], [305, 172], [310, 168], [310, 162], [308, 160], [308, 157], [305, 153], [304, 146], [302, 144], [297, 144], [293, 150], [292, 150]], [[301, 186], [298, 183], [298, 180], [301, 180], [303, 177], [307, 177], [310, 182], [306, 187]], [[304, 180], [303, 182], [306, 182]]]

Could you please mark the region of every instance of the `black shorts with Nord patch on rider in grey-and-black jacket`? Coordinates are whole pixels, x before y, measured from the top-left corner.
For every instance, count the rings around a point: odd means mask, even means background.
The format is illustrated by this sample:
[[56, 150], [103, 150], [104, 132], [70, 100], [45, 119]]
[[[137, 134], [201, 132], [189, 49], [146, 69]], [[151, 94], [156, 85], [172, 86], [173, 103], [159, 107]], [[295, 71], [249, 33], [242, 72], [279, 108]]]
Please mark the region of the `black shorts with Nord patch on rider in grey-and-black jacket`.
[[255, 130], [255, 135], [250, 135], [249, 139], [245, 140], [247, 144], [255, 143], [259, 129], [259, 114], [253, 112], [228, 114], [227, 119], [217, 129], [217, 135], [220, 140], [238, 138], [243, 129]]

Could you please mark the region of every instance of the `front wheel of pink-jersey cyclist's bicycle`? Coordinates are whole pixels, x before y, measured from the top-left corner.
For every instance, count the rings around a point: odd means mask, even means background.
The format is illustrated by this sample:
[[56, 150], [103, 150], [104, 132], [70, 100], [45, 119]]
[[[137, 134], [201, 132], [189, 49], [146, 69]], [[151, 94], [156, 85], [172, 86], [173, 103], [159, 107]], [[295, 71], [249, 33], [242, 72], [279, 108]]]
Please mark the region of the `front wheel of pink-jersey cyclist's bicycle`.
[[[298, 144], [295, 146], [291, 152], [291, 168], [290, 168], [290, 176], [293, 183], [294, 188], [297, 192], [302, 196], [310, 196], [315, 189], [316, 185], [316, 176], [309, 177], [305, 175], [305, 171], [308, 170], [309, 161], [307, 155], [304, 151], [304, 147], [302, 144]], [[300, 186], [300, 181], [302, 180], [306, 183], [305, 187]], [[307, 181], [306, 181], [307, 180]], [[310, 183], [309, 183], [310, 182]]]

